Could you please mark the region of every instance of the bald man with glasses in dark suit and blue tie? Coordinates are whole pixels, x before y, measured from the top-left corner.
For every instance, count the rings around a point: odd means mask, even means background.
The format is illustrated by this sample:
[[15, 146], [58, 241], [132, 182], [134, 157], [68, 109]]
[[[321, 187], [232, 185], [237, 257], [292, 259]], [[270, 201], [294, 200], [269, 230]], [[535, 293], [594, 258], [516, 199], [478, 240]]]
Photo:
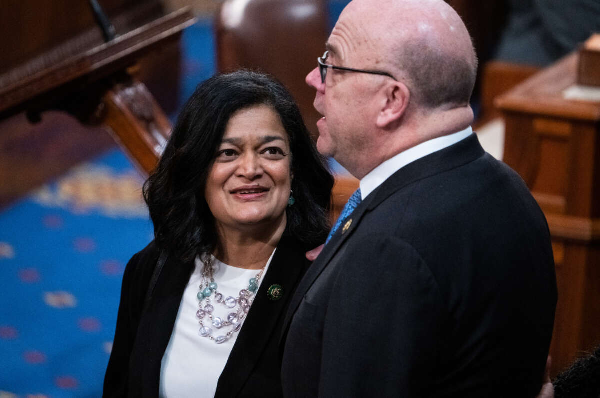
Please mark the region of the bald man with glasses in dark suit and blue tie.
[[442, 0], [353, 0], [326, 48], [307, 76], [317, 147], [361, 182], [290, 304], [284, 394], [536, 396], [550, 233], [472, 132], [463, 21]]

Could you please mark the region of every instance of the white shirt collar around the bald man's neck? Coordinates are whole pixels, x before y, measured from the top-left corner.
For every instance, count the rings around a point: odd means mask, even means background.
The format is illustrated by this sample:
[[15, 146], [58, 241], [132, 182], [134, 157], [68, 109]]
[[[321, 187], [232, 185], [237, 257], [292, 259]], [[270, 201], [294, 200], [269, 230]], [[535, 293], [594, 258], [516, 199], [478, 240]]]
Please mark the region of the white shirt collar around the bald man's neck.
[[368, 194], [373, 192], [378, 186], [380, 186], [385, 180], [387, 180], [392, 174], [400, 170], [409, 163], [421, 159], [424, 156], [439, 151], [440, 149], [449, 147], [452, 144], [456, 144], [461, 139], [467, 138], [467, 136], [473, 133], [471, 126], [464, 130], [460, 130], [457, 133], [443, 135], [441, 137], [433, 138], [425, 142], [421, 142], [419, 145], [415, 145], [412, 148], [398, 153], [393, 158], [389, 158], [376, 168], [370, 171], [366, 176], [362, 177], [361, 180], [361, 196], [364, 200]]

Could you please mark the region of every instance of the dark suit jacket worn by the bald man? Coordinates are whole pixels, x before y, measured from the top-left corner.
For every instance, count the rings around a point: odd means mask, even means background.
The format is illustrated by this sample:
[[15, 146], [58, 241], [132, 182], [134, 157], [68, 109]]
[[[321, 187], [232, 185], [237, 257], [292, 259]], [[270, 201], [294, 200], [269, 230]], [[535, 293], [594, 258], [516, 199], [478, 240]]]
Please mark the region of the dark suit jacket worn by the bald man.
[[286, 397], [539, 393], [557, 301], [550, 234], [476, 135], [401, 168], [350, 218], [290, 304]]

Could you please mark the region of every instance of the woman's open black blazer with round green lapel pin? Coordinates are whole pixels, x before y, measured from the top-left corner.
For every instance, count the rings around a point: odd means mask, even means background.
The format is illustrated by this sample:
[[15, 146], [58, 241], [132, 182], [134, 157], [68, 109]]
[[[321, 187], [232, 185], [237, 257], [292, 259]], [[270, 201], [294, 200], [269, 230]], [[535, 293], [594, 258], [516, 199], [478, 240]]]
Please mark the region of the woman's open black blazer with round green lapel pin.
[[[308, 249], [287, 231], [281, 237], [221, 373], [217, 397], [281, 396], [281, 325], [293, 290], [310, 265], [305, 258]], [[125, 269], [115, 340], [104, 379], [105, 397], [158, 397], [161, 361], [194, 269], [193, 263], [167, 259], [148, 310], [143, 312], [159, 254], [152, 242], [135, 254]], [[283, 286], [284, 295], [278, 301], [270, 301], [266, 294], [272, 284]]]

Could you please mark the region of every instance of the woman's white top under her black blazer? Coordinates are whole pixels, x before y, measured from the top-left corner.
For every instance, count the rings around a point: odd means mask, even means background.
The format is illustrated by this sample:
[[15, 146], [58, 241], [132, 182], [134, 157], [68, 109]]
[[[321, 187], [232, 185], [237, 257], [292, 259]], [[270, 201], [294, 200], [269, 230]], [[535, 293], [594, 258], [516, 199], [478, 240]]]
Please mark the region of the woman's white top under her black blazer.
[[[269, 257], [266, 263], [265, 271], [259, 281], [259, 288], [265, 279], [266, 272], [275, 251]], [[205, 256], [205, 255], [204, 255]], [[203, 256], [203, 258], [205, 258]], [[245, 269], [227, 265], [213, 257], [212, 262], [218, 265], [218, 270], [214, 274], [215, 282], [218, 284], [218, 291], [223, 293], [224, 297], [238, 297], [239, 291], [248, 289], [250, 278], [256, 277], [259, 272], [257, 269]], [[179, 304], [175, 327], [169, 340], [169, 345], [163, 356], [163, 363], [160, 372], [160, 396], [161, 397], [214, 397], [217, 391], [217, 382], [225, 365], [229, 354], [233, 349], [233, 344], [238, 338], [239, 332], [222, 344], [207, 337], [201, 337], [198, 332], [200, 325], [196, 317], [196, 311], [199, 309], [197, 294], [199, 292], [200, 282], [202, 281], [202, 260], [196, 258], [196, 268], [190, 277], [190, 281], [185, 287], [184, 295]], [[211, 296], [213, 298], [214, 295]], [[220, 317], [226, 320], [227, 314], [232, 312], [222, 304], [216, 304], [211, 299], [214, 306], [213, 317]], [[204, 305], [204, 301], [203, 301]], [[244, 322], [242, 320], [242, 323]], [[213, 329], [213, 337], [225, 334], [231, 328], [214, 328], [208, 316], [205, 316], [204, 325]], [[160, 322], [160, 319], [157, 319]], [[242, 326], [243, 328], [243, 326]]]

